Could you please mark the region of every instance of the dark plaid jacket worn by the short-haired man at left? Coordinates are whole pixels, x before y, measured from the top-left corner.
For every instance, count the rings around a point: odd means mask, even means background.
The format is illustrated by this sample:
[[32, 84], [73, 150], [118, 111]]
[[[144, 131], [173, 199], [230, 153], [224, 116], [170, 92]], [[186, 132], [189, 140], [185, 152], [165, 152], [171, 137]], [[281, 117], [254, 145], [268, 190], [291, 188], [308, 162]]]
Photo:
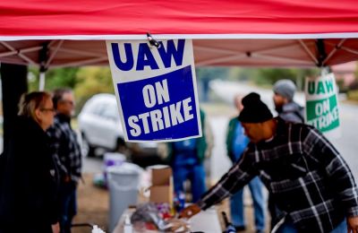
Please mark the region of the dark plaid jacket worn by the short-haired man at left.
[[81, 147], [72, 130], [70, 118], [57, 114], [47, 134], [51, 137], [61, 177], [69, 176], [77, 183], [81, 178]]

